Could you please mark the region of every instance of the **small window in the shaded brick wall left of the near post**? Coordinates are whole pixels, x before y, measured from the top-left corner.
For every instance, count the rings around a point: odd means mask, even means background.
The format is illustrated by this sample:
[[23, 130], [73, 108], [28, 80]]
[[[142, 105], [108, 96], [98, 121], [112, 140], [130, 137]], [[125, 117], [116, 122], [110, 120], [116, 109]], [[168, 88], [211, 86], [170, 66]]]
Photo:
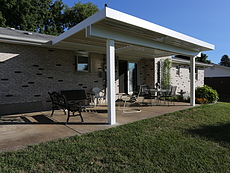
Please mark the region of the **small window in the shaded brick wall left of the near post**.
[[75, 57], [75, 70], [79, 72], [90, 72], [89, 57], [77, 55]]

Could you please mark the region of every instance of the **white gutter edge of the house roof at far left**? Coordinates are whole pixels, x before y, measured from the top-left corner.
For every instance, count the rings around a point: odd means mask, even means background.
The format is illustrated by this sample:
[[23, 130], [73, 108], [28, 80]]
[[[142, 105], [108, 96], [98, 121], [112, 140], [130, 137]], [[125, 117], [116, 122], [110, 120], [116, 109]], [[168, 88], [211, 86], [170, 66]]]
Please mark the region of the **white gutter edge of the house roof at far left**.
[[2, 35], [0, 34], [0, 39], [1, 40], [10, 40], [17, 41], [17, 42], [31, 42], [31, 43], [39, 43], [39, 44], [46, 44], [49, 42], [49, 40], [38, 40], [38, 39], [31, 39], [31, 38], [24, 38], [24, 37], [15, 37], [15, 36], [10, 36], [10, 35]]

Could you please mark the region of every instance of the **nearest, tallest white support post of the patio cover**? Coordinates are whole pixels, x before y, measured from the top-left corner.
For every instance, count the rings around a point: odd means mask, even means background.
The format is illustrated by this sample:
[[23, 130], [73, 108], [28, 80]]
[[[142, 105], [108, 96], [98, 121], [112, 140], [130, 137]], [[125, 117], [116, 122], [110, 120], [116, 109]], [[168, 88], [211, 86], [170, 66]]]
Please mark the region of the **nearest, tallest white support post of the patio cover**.
[[115, 105], [115, 48], [114, 40], [106, 41], [107, 59], [107, 97], [108, 97], [108, 123], [116, 124], [116, 105]]

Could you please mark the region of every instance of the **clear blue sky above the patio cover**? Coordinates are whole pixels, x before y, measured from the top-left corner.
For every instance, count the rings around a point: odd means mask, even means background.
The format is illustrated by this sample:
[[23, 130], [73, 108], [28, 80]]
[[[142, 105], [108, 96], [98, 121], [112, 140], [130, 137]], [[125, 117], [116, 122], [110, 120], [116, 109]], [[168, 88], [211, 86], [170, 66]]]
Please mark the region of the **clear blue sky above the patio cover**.
[[[69, 7], [74, 0], [63, 0]], [[110, 8], [139, 17], [174, 31], [215, 45], [203, 52], [213, 63], [223, 55], [230, 57], [230, 0], [82, 0], [99, 9]]]

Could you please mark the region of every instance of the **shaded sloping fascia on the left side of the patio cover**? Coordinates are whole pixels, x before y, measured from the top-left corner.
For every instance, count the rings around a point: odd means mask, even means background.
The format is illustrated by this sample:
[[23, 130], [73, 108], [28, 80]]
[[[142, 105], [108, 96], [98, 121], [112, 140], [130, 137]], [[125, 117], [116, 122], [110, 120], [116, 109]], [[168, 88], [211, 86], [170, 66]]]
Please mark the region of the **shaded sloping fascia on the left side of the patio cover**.
[[75, 25], [71, 29], [65, 31], [63, 34], [59, 35], [58, 37], [54, 38], [52, 40], [52, 44], [56, 44], [65, 38], [70, 37], [71, 35], [81, 31], [82, 29], [85, 29], [87, 26], [98, 22], [106, 17], [106, 8], [100, 10], [99, 12], [95, 13], [94, 15], [88, 17], [84, 21], [80, 22], [79, 24]]

